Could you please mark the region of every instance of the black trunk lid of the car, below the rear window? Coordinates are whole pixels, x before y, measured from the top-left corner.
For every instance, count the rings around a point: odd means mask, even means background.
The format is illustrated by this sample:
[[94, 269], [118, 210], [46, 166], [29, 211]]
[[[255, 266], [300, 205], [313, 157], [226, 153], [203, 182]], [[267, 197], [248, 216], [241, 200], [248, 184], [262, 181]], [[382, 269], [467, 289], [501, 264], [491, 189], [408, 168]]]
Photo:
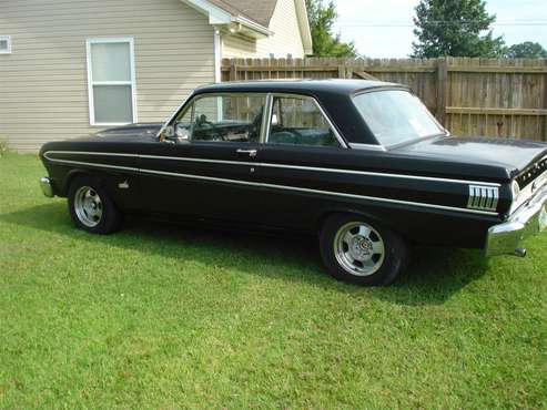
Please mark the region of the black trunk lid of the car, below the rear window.
[[547, 155], [547, 144], [529, 140], [444, 136], [401, 146], [394, 151], [429, 160], [504, 167], [514, 176]]

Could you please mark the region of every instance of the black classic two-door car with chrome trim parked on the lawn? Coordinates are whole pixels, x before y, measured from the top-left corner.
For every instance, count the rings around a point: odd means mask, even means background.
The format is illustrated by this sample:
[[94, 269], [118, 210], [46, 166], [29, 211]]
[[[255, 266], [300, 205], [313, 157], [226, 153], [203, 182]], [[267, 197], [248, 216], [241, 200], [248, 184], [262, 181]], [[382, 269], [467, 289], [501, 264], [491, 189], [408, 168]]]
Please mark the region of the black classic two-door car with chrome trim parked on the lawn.
[[[124, 214], [317, 235], [338, 279], [387, 285], [414, 244], [525, 256], [547, 224], [547, 144], [452, 136], [413, 92], [359, 80], [212, 84], [162, 124], [43, 145], [81, 229]], [[272, 245], [275, 246], [275, 245]]]

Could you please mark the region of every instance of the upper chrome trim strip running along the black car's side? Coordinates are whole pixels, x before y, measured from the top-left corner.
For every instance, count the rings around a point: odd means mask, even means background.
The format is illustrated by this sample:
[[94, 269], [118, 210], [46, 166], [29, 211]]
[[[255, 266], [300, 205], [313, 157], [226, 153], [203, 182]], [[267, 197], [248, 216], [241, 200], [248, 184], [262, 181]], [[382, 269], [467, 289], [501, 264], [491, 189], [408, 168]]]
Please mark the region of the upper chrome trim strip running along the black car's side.
[[301, 166], [301, 165], [284, 165], [284, 164], [271, 164], [261, 162], [244, 162], [244, 161], [224, 161], [224, 160], [207, 160], [207, 158], [185, 158], [179, 156], [160, 156], [160, 155], [138, 155], [138, 154], [117, 154], [117, 153], [94, 153], [94, 152], [79, 152], [79, 151], [48, 151], [44, 156], [51, 160], [49, 154], [82, 154], [82, 155], [104, 155], [104, 156], [129, 156], [135, 158], [148, 158], [148, 160], [168, 160], [168, 161], [183, 161], [183, 162], [202, 162], [211, 164], [227, 164], [227, 165], [250, 165], [250, 166], [265, 166], [273, 168], [286, 168], [286, 170], [300, 170], [300, 171], [316, 171], [316, 172], [332, 172], [350, 175], [366, 175], [366, 176], [384, 176], [392, 178], [402, 180], [418, 180], [418, 181], [432, 181], [432, 182], [448, 182], [454, 184], [476, 184], [484, 186], [500, 187], [502, 184], [482, 181], [468, 181], [468, 180], [450, 180], [440, 178], [435, 176], [419, 176], [419, 175], [403, 175], [403, 174], [386, 174], [379, 172], [369, 171], [353, 171], [353, 170], [340, 170], [340, 168], [323, 168], [315, 166]]

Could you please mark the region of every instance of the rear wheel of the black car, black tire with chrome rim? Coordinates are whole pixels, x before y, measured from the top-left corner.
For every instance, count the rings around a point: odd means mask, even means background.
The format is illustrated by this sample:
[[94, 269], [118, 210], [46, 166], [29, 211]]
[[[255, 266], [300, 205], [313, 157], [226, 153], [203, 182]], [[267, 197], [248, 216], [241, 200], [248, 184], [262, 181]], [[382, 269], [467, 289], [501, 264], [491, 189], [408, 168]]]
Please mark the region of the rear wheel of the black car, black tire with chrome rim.
[[[354, 262], [353, 265], [355, 265], [356, 270], [358, 270], [358, 264], [361, 264], [363, 270], [369, 269], [369, 273], [351, 270], [351, 267], [348, 266], [352, 266], [352, 263], [348, 263], [347, 260], [352, 259], [354, 254], [351, 254], [347, 242], [342, 240], [343, 246], [336, 245], [341, 244], [338, 238], [345, 237], [342, 233], [347, 233], [347, 229], [355, 224], [361, 224], [361, 226], [365, 225], [372, 228], [369, 236], [374, 242], [369, 239], [371, 242], [364, 245], [363, 243], [366, 239], [363, 239], [363, 236], [359, 236], [359, 227], [355, 226], [351, 229], [351, 235], [354, 235], [354, 229], [357, 229], [357, 234], [355, 234], [354, 237], [361, 237], [361, 239], [358, 239], [361, 243], [357, 244], [355, 244], [355, 240], [357, 239], [352, 238], [352, 246], [357, 248], [357, 253], [362, 252], [362, 254], [358, 254], [359, 257], [369, 258], [366, 263], [374, 266], [365, 266], [359, 260]], [[376, 242], [381, 243], [378, 247], [383, 249], [382, 253], [375, 254], [371, 247], [371, 244], [375, 244]], [[377, 223], [369, 223], [358, 215], [336, 214], [330, 216], [323, 224], [320, 233], [320, 247], [321, 256], [331, 275], [338, 280], [355, 285], [387, 286], [395, 280], [408, 264], [408, 246], [401, 235]], [[337, 249], [342, 250], [337, 252]], [[352, 249], [354, 249], [354, 247], [352, 247]], [[344, 266], [344, 264], [346, 266]]]

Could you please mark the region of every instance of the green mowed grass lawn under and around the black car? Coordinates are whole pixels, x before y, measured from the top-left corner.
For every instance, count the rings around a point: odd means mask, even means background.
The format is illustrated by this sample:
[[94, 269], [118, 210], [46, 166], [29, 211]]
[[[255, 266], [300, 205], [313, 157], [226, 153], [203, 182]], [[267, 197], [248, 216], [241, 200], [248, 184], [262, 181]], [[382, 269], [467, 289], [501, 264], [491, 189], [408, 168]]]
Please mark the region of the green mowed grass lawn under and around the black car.
[[547, 235], [525, 259], [417, 249], [389, 288], [313, 240], [77, 230], [0, 158], [0, 408], [546, 408]]

